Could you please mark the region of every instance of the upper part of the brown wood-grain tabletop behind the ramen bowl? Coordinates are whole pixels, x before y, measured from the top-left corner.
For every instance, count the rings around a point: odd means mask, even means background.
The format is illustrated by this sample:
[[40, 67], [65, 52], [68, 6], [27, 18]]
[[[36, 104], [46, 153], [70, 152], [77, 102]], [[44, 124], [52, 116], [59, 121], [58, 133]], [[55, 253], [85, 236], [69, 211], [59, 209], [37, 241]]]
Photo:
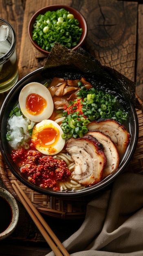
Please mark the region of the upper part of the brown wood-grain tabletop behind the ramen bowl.
[[[88, 23], [84, 48], [101, 62], [136, 82], [136, 93], [143, 97], [143, 1], [60, 0], [80, 11]], [[17, 35], [19, 79], [42, 67], [46, 56], [30, 43], [28, 24], [33, 13], [59, 0], [2, 0], [0, 17], [8, 20]], [[34, 56], [34, 57], [33, 57]], [[1, 97], [2, 98], [2, 97]]]

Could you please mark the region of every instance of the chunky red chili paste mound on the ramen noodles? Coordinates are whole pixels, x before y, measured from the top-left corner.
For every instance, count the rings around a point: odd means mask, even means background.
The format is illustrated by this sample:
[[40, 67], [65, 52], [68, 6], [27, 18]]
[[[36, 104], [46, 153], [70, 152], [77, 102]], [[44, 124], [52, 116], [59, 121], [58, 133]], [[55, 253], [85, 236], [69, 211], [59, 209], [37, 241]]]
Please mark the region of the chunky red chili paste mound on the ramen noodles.
[[71, 175], [64, 160], [42, 155], [33, 148], [13, 150], [11, 157], [29, 181], [42, 188], [60, 190], [58, 181], [64, 182]]

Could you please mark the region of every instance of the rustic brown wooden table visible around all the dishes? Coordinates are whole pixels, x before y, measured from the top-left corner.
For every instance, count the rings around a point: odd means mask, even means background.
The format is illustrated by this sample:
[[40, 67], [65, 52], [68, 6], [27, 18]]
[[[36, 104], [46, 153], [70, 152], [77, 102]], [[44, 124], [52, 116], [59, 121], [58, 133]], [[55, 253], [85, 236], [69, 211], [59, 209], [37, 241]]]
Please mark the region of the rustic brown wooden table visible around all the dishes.
[[[88, 23], [84, 45], [102, 65], [113, 67], [136, 82], [136, 94], [143, 99], [143, 1], [121, 0], [5, 0], [0, 1], [0, 17], [9, 21], [17, 35], [19, 79], [42, 67], [46, 56], [38, 52], [28, 36], [28, 23], [35, 11], [50, 4], [66, 4], [80, 11]], [[0, 105], [6, 93], [0, 94]], [[20, 220], [13, 235], [0, 241], [0, 255], [46, 255], [50, 249], [30, 217], [20, 207]], [[63, 241], [83, 220], [47, 218]], [[63, 229], [64, 227], [64, 229]]]

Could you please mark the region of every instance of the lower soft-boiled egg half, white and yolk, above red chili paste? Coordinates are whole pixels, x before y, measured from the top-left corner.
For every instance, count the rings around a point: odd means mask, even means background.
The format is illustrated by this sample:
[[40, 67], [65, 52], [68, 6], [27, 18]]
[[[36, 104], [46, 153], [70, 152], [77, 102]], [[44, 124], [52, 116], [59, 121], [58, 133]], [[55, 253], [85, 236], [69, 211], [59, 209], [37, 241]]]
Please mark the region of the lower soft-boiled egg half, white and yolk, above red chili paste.
[[46, 119], [33, 127], [31, 142], [44, 155], [55, 155], [65, 145], [62, 128], [53, 120]]

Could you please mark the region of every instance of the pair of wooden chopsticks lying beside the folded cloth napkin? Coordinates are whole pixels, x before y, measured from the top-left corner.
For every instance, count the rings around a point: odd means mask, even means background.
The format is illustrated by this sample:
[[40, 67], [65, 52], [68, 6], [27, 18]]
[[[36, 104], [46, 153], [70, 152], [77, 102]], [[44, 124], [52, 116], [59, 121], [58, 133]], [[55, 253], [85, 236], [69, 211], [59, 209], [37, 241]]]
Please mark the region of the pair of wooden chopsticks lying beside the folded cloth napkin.
[[[23, 206], [25, 207], [26, 211], [31, 216], [32, 220], [34, 221], [35, 225], [41, 232], [42, 236], [45, 238], [48, 245], [51, 247], [53, 252], [56, 256], [70, 256], [70, 254], [67, 252], [64, 245], [59, 241], [53, 230], [48, 226], [47, 222], [44, 220], [44, 218], [41, 216], [39, 211], [34, 207], [32, 202], [29, 200], [27, 195], [24, 193], [24, 191], [21, 189], [19, 184], [14, 180], [14, 184], [12, 184], [13, 189], [15, 193], [20, 198], [20, 201], [22, 202]], [[48, 232], [48, 233], [47, 233]], [[55, 243], [54, 243], [55, 242]], [[61, 253], [62, 252], [62, 253]]]

